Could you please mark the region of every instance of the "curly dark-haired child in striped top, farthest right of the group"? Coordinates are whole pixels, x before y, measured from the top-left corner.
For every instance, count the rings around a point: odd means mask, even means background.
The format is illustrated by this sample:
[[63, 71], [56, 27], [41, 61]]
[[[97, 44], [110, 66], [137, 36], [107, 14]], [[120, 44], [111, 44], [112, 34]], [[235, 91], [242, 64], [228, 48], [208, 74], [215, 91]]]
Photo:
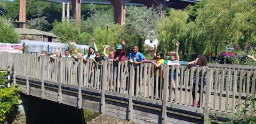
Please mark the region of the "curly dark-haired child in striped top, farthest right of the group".
[[[203, 55], [198, 55], [195, 61], [192, 62], [188, 62], [188, 65], [190, 67], [202, 67], [202, 68], [207, 68], [207, 59], [205, 56]], [[193, 90], [192, 90], [192, 97], [193, 97], [193, 101], [192, 101], [192, 106], [195, 106], [195, 89], [196, 87], [199, 88], [199, 96], [203, 95], [201, 94], [201, 85], [205, 86], [206, 85], [206, 75], [204, 75], [204, 79], [203, 79], [203, 84], [201, 84], [201, 73], [199, 73], [199, 80], [198, 80], [198, 86], [196, 86], [196, 72], [194, 72], [194, 77], [193, 77]], [[203, 97], [203, 96], [202, 96]], [[200, 107], [200, 97], [199, 97], [199, 101], [197, 102], [197, 107]]]

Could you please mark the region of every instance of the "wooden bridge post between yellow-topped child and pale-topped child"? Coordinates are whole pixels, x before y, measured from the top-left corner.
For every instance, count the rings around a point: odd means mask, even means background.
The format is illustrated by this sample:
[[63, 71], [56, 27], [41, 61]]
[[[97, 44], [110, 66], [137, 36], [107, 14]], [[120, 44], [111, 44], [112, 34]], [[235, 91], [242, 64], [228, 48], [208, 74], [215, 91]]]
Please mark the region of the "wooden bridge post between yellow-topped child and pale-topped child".
[[[167, 87], [168, 87], [167, 84], [169, 82], [169, 75], [168, 75], [169, 74], [169, 66], [165, 66], [164, 73], [165, 73], [165, 78], [164, 78], [164, 91], [163, 91], [163, 102], [162, 102], [162, 123], [167, 123], [166, 103], [167, 103]], [[172, 86], [170, 86], [170, 88], [171, 87]]]

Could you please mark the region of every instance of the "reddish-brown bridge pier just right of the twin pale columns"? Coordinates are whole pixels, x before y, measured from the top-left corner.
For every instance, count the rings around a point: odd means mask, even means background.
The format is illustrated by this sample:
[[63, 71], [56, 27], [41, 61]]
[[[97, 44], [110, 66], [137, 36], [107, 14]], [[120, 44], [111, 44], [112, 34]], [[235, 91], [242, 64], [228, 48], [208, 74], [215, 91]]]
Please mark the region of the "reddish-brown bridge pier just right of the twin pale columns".
[[72, 16], [78, 24], [78, 28], [81, 29], [81, 0], [71, 0], [72, 4]]

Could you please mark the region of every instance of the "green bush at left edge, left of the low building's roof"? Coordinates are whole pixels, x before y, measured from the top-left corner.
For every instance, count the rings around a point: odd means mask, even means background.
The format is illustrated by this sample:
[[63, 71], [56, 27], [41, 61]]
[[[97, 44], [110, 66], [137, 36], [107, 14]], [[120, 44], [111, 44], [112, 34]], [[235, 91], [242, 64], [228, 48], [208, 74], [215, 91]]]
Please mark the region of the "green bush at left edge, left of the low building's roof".
[[1, 43], [19, 43], [19, 35], [14, 30], [11, 21], [0, 16], [0, 42]]

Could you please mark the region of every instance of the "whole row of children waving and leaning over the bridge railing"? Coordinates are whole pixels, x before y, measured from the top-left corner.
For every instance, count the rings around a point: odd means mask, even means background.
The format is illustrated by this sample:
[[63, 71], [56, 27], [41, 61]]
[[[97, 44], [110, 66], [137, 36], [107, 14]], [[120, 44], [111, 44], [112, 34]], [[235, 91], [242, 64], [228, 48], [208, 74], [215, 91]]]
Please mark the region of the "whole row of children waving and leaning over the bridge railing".
[[[77, 51], [75, 51], [75, 53], [77, 54], [76, 56], [74, 56], [75, 59], [83, 59], [84, 62], [87, 62], [89, 59], [93, 60], [93, 67], [91, 72], [94, 72], [94, 69], [100, 69], [99, 67], [101, 66], [101, 61], [103, 60], [103, 56], [101, 56], [100, 52], [97, 49], [97, 46], [94, 42], [94, 39], [92, 39], [92, 43], [93, 43], [93, 47], [89, 47], [89, 51], [87, 55], [83, 55], [82, 53], [78, 53]], [[71, 43], [71, 48], [72, 45], [74, 43]], [[174, 52], [170, 52], [170, 60], [164, 61], [164, 53], [161, 51], [156, 52], [156, 45], [154, 45], [153, 47], [153, 56], [155, 57], [155, 62], [152, 62], [152, 64], [154, 65], [154, 76], [157, 76], [157, 69], [159, 67], [161, 67], [161, 65], [166, 64], [166, 65], [180, 65], [180, 59], [179, 59], [179, 54], [178, 54], [178, 49], [179, 49], [179, 42], [175, 43], [175, 51]], [[109, 48], [109, 46], [105, 46], [104, 51], [103, 51], [103, 55], [105, 56], [105, 58], [107, 60], [113, 61], [114, 65], [119, 62], [119, 61], [126, 61], [126, 52], [125, 52], [125, 40], [122, 40], [122, 44], [118, 44], [116, 45], [116, 51], [110, 51], [109, 54], [106, 53], [107, 48]], [[52, 59], [55, 59], [55, 57], [71, 57], [72, 53], [72, 49], [71, 51], [66, 51], [65, 55], [61, 55], [60, 51], [55, 51], [55, 54], [51, 55], [50, 57]], [[43, 51], [41, 55], [46, 55], [46, 52]], [[130, 63], [132, 63], [134, 65], [134, 68], [140, 67], [140, 64], [148, 62], [146, 57], [139, 52], [139, 46], [135, 45], [133, 46], [133, 52], [131, 52], [127, 58], [127, 61], [129, 61]], [[197, 59], [195, 61], [191, 61], [188, 62], [188, 65], [190, 67], [202, 67], [202, 68], [207, 68], [207, 59], [205, 56], [202, 55], [198, 55]], [[134, 69], [135, 73], [137, 73], [136, 71], [137, 69]], [[160, 90], [160, 87], [162, 86], [162, 82], [161, 82], [161, 71], [159, 71], [158, 73], [158, 91]], [[171, 76], [172, 73], [171, 71], [169, 72], [169, 82], [171, 82], [171, 78], [173, 78], [173, 85], [172, 85], [172, 89], [175, 89], [175, 77], [177, 75], [179, 75], [179, 73], [176, 73], [176, 71], [174, 71], [173, 73], [173, 77]], [[195, 105], [195, 84], [196, 84], [196, 74], [194, 74], [194, 79], [193, 79], [193, 83], [194, 83], [194, 87], [193, 87], [193, 102], [192, 105]], [[138, 78], [138, 77], [137, 77]], [[205, 86], [206, 84], [206, 77], [204, 77], [203, 79], [203, 84], [201, 84], [201, 76], [199, 76], [199, 80], [198, 80], [198, 86], [199, 86], [199, 94], [201, 93], [201, 85]], [[156, 80], [155, 80], [156, 82]], [[134, 84], [134, 89], [136, 89], [137, 86], [137, 81], [135, 79], [135, 84]], [[156, 87], [156, 83], [154, 83], [154, 87]], [[154, 88], [154, 94], [155, 97], [157, 97], [156, 99], [159, 100], [159, 93], [156, 94], [155, 91], [156, 88]], [[169, 100], [170, 101], [170, 100]], [[200, 100], [199, 100], [200, 101]], [[197, 102], [197, 107], [200, 106], [200, 102]]]

